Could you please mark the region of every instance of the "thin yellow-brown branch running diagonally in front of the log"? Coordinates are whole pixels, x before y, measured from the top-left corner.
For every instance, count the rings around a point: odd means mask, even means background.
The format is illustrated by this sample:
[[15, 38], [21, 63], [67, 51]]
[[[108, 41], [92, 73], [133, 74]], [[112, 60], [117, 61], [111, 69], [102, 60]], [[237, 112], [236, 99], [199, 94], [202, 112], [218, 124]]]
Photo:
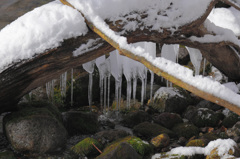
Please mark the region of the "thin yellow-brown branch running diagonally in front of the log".
[[[65, 3], [67, 4], [68, 6], [70, 7], [73, 7], [71, 4], [67, 3], [66, 0], [60, 0], [62, 3]], [[74, 7], [73, 7], [74, 8]], [[83, 14], [83, 13], [81, 13]], [[85, 17], [85, 16], [83, 16]], [[155, 74], [159, 75], [159, 76], [162, 76], [164, 77], [165, 79], [169, 80], [170, 82], [196, 94], [197, 96], [199, 97], [202, 97], [203, 99], [206, 99], [208, 101], [211, 101], [211, 102], [214, 102], [216, 104], [219, 104], [221, 106], [224, 106], [225, 108], [228, 108], [230, 109], [231, 111], [234, 111], [235, 113], [239, 114], [240, 115], [240, 104], [235, 102], [235, 103], [232, 103], [231, 100], [228, 100], [228, 99], [224, 99], [224, 98], [221, 98], [219, 96], [216, 96], [216, 94], [212, 94], [212, 93], [209, 93], [208, 91], [206, 91], [205, 89], [199, 89], [197, 87], [197, 84], [195, 83], [191, 83], [189, 84], [188, 82], [185, 82], [184, 80], [182, 80], [181, 78], [179, 78], [177, 75], [175, 74], [170, 74], [168, 72], [166, 72], [166, 70], [164, 70], [164, 67], [160, 67], [158, 65], [156, 65], [156, 60], [153, 60], [151, 58], [148, 58], [148, 56], [144, 56], [144, 55], [138, 55], [137, 53], [133, 53], [132, 51], [135, 51], [134, 49], [131, 49], [131, 47], [129, 47], [127, 44], [127, 46], [123, 46], [123, 45], [120, 45], [116, 39], [119, 38], [119, 36], [117, 36], [114, 32], [109, 32], [108, 28], [105, 27], [104, 29], [108, 30], [108, 32], [103, 32], [102, 30], [100, 30], [98, 28], [98, 26], [96, 26], [94, 24], [94, 22], [91, 22], [89, 20], [87, 20], [85, 18], [85, 21], [87, 23], [87, 25], [89, 26], [89, 28], [91, 28], [95, 33], [97, 33], [100, 37], [102, 37], [105, 41], [107, 41], [109, 44], [111, 44], [115, 49], [119, 50], [119, 52], [133, 60], [136, 60], [136, 61], [139, 61], [141, 63], [143, 63], [146, 67], [148, 67], [151, 71], [153, 71]], [[100, 22], [101, 23], [101, 22]], [[103, 29], [103, 28], [102, 28]], [[115, 35], [114, 35], [115, 34]], [[109, 36], [111, 35], [111, 37]], [[123, 48], [124, 47], [124, 48]], [[129, 49], [125, 49], [126, 48], [129, 48]], [[159, 58], [160, 60], [158, 60], [158, 62], [161, 62], [161, 58]], [[161, 64], [159, 64], [161, 65]], [[166, 66], [165, 66], [166, 67]], [[179, 69], [184, 69], [183, 66], [178, 66]], [[194, 78], [194, 77], [189, 77], [189, 78]], [[197, 79], [197, 78], [196, 78]], [[203, 79], [202, 79], [203, 80]], [[209, 84], [214, 84], [214, 82], [210, 82], [209, 80]], [[215, 88], [217, 89], [217, 87]], [[235, 95], [236, 97], [239, 97], [239, 95]], [[239, 100], [238, 100], [239, 101]], [[239, 101], [240, 102], [240, 101]], [[236, 104], [237, 103], [237, 104]]]

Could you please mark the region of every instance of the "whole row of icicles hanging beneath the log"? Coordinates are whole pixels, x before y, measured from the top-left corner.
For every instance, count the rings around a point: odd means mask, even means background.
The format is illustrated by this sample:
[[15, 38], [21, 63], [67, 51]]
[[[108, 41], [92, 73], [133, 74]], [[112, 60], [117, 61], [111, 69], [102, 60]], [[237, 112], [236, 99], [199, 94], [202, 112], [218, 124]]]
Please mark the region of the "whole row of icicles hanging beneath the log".
[[[152, 57], [156, 57], [156, 44], [151, 42], [139, 42], [133, 44], [135, 47], [142, 47]], [[139, 48], [141, 49], [141, 48]], [[202, 54], [198, 49], [186, 47], [189, 52], [190, 60], [195, 68], [195, 75], [199, 75], [200, 66], [202, 61]], [[161, 57], [178, 63], [179, 45], [163, 45], [161, 49]], [[121, 94], [122, 94], [122, 75], [125, 76], [127, 81], [127, 97], [126, 107], [127, 109], [131, 106], [131, 96], [133, 103], [136, 102], [136, 88], [137, 79], [141, 80], [141, 105], [143, 105], [144, 99], [146, 99], [146, 86], [147, 86], [147, 71], [148, 69], [137, 61], [134, 61], [128, 57], [119, 55], [118, 51], [112, 51], [110, 56], [106, 58], [105, 55], [97, 58], [96, 60], [83, 64], [83, 68], [89, 73], [89, 85], [88, 85], [88, 101], [89, 106], [92, 106], [92, 85], [93, 85], [93, 72], [94, 66], [97, 66], [100, 74], [99, 87], [100, 87], [100, 105], [103, 111], [109, 110], [110, 107], [110, 77], [113, 76], [115, 79], [115, 101], [116, 109], [120, 109]], [[206, 60], [204, 59], [203, 74], [205, 71]], [[150, 100], [153, 96], [153, 83], [154, 73], [151, 74], [150, 84]], [[71, 70], [71, 105], [73, 104], [73, 69]], [[171, 86], [171, 83], [167, 82], [167, 86]], [[67, 72], [63, 73], [60, 77], [60, 88], [61, 96], [66, 96], [67, 89]], [[49, 99], [53, 100], [54, 96], [55, 80], [46, 83], [46, 92]], [[108, 109], [107, 109], [108, 108]]]

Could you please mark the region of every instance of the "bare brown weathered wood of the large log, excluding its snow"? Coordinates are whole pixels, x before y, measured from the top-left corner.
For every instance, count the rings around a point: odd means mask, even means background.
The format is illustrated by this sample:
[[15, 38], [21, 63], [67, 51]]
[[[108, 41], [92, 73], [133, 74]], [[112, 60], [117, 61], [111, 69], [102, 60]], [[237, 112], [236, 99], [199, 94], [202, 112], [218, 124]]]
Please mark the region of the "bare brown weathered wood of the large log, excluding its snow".
[[[202, 37], [205, 34], [210, 34], [203, 31], [204, 29], [200, 27], [200, 24], [204, 22], [210, 13], [214, 7], [214, 3], [216, 1], [211, 3], [204, 16], [194, 21], [194, 24], [191, 23], [182, 26], [174, 34], [167, 29], [163, 29], [163, 32], [160, 33], [138, 28], [135, 31], [126, 32], [123, 36], [127, 37], [129, 43], [152, 41], [156, 43], [182, 44], [198, 48], [214, 66], [231, 79], [240, 81], [239, 57], [237, 57], [237, 54], [232, 49], [229, 49], [229, 46], [233, 46], [239, 52], [239, 46], [228, 42], [197, 43], [188, 39], [190, 35]], [[141, 13], [139, 14], [141, 15]], [[115, 32], [122, 31], [125, 25], [120, 25], [120, 20], [116, 24], [111, 21], [106, 22]], [[90, 39], [96, 40], [96, 43], [91, 48], [94, 48], [95, 45], [101, 46], [93, 50], [89, 49], [90, 51], [74, 57], [72, 52], [82, 44], [86, 44]], [[80, 66], [113, 50], [114, 48], [111, 45], [102, 40], [94, 32], [89, 31], [84, 36], [67, 39], [58, 48], [48, 50], [31, 60], [24, 60], [21, 63], [13, 64], [12, 67], [0, 73], [0, 113], [15, 108], [15, 104], [19, 99], [32, 89], [44, 85], [51, 79], [59, 78], [63, 72], [73, 67]]]

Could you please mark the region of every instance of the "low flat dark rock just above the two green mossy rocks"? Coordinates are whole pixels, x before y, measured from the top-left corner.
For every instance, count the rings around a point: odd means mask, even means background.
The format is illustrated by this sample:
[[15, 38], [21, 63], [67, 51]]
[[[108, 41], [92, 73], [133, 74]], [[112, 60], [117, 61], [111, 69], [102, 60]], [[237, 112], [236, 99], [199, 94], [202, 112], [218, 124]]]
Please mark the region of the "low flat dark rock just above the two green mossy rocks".
[[117, 129], [104, 130], [95, 134], [98, 141], [101, 141], [103, 144], [113, 142], [128, 135], [126, 131]]

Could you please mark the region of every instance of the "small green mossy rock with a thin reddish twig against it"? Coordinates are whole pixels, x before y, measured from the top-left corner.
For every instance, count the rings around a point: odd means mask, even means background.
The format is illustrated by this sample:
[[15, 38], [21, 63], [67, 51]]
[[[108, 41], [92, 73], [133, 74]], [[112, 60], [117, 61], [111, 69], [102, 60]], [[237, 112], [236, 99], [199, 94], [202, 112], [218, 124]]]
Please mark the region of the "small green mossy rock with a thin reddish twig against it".
[[102, 149], [102, 145], [97, 140], [88, 137], [73, 146], [71, 150], [79, 156], [94, 156], [99, 154], [99, 152], [93, 144], [97, 148]]

